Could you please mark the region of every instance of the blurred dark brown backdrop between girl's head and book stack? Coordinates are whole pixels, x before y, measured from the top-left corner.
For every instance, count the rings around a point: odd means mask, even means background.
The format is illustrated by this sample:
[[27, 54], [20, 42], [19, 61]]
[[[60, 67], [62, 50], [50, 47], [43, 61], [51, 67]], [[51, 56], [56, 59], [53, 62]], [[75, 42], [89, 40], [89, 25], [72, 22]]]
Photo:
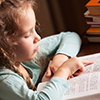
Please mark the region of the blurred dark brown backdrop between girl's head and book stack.
[[37, 0], [39, 35], [43, 38], [61, 31], [83, 34], [89, 26], [85, 22], [85, 7], [89, 0]]

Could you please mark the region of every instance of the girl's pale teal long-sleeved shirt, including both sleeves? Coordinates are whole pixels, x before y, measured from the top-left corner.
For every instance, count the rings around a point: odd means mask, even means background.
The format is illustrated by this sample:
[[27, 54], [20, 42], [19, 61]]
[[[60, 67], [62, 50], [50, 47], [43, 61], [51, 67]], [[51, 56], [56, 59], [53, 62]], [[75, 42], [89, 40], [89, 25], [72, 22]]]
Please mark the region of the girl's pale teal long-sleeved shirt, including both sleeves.
[[[61, 32], [58, 35], [41, 39], [39, 45], [39, 53], [35, 59], [41, 62], [44, 58], [58, 53], [70, 57], [76, 56], [80, 50], [81, 39], [74, 32]], [[42, 63], [45, 63], [45, 60]], [[22, 62], [22, 65], [29, 72], [33, 84], [36, 84], [43, 66], [37, 64], [35, 60]], [[68, 88], [67, 81], [60, 77], [53, 77], [46, 87], [37, 93], [29, 89], [24, 79], [18, 74], [10, 69], [4, 69], [3, 66], [0, 68], [0, 100], [62, 100]]]

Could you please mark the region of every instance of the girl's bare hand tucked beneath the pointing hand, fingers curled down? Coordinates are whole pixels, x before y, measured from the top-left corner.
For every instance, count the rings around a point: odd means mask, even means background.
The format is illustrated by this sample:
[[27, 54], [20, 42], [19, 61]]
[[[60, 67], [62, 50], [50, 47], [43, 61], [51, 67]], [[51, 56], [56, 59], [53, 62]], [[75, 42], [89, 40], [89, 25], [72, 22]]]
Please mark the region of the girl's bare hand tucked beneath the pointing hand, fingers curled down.
[[57, 54], [54, 56], [51, 64], [48, 66], [46, 71], [46, 77], [50, 78], [57, 70], [58, 68], [69, 58], [64, 54]]

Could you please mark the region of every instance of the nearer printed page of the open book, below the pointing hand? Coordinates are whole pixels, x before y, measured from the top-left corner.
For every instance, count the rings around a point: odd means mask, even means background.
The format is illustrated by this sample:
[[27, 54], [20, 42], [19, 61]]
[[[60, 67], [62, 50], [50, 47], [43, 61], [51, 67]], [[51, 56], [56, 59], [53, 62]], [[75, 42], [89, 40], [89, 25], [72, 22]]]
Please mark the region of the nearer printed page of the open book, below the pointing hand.
[[100, 93], [100, 72], [82, 74], [68, 80], [68, 82], [70, 88], [65, 93], [64, 100], [74, 100], [75, 98]]

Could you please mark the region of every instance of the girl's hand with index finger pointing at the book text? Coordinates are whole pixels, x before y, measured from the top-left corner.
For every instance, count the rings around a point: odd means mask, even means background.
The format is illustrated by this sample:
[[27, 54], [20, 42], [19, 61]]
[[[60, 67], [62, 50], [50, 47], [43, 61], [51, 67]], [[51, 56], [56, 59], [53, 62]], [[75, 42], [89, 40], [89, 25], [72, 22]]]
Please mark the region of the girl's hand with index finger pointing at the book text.
[[65, 61], [61, 67], [56, 71], [53, 77], [61, 77], [63, 79], [68, 79], [72, 75], [80, 75], [84, 72], [84, 64], [93, 64], [93, 61], [85, 61], [73, 57]]

